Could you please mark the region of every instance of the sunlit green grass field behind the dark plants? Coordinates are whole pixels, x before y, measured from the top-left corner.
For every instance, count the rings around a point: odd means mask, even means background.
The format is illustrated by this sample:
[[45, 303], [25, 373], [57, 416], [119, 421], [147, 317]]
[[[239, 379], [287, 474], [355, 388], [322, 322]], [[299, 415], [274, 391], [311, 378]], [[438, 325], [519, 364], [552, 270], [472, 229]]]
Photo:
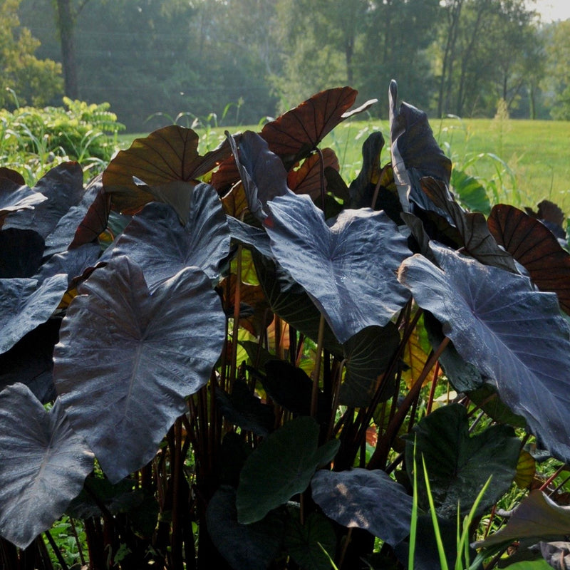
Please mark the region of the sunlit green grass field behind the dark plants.
[[[453, 167], [480, 177], [492, 203], [535, 207], [550, 199], [570, 217], [570, 123], [512, 119], [430, 120], [436, 140], [452, 159]], [[259, 130], [257, 126], [229, 128]], [[323, 141], [341, 162], [341, 174], [350, 182], [362, 165], [361, 146], [369, 133], [381, 130], [389, 137], [388, 121], [341, 123]], [[201, 153], [223, 140], [223, 128], [198, 130]], [[123, 147], [137, 136], [122, 135]], [[382, 162], [390, 160], [383, 150]]]

